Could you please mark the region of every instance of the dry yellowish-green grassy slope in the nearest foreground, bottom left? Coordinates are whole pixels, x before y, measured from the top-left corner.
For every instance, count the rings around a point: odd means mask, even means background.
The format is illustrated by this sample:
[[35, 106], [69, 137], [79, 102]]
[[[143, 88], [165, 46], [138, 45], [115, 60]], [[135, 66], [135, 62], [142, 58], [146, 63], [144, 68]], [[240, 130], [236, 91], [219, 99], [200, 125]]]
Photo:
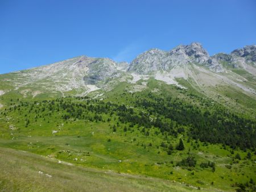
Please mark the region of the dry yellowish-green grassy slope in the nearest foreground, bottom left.
[[192, 191], [171, 181], [58, 164], [24, 151], [0, 148], [0, 156], [1, 191]]

